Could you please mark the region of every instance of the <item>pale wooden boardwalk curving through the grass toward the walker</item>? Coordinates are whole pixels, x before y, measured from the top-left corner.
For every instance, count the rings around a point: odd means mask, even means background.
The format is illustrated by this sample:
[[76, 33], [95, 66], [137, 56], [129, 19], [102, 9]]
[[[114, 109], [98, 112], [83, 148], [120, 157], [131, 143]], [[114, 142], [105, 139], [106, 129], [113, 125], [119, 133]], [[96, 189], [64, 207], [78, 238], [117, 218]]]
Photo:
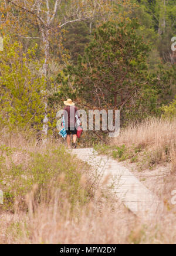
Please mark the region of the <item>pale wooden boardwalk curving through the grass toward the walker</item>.
[[[163, 211], [163, 203], [147, 189], [127, 168], [121, 163], [107, 156], [100, 156], [93, 150], [72, 149], [72, 154], [80, 160], [93, 166], [98, 175], [101, 176], [100, 183], [106, 176], [109, 176], [108, 183], [102, 188], [111, 189], [124, 205], [134, 214], [138, 215], [142, 221], [153, 221], [158, 212]], [[104, 186], [104, 187], [103, 187]]]

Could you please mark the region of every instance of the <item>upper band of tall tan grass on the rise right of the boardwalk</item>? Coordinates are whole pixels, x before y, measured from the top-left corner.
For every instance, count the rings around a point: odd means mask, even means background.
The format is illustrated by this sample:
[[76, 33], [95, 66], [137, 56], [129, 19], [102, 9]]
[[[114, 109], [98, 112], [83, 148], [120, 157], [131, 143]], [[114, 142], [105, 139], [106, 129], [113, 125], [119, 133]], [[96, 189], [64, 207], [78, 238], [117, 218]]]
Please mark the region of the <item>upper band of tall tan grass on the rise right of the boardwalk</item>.
[[176, 120], [146, 119], [136, 126], [121, 129], [120, 136], [110, 143], [140, 147], [141, 151], [148, 152], [151, 164], [171, 162], [171, 172], [176, 170]]

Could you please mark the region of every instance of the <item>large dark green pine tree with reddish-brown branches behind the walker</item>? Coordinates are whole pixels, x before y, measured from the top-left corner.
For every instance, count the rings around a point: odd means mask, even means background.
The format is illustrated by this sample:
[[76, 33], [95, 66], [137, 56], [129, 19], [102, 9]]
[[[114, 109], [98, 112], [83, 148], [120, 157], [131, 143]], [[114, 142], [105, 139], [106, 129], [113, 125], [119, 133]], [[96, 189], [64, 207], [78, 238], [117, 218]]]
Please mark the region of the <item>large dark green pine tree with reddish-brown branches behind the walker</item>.
[[107, 22], [94, 32], [94, 40], [86, 48], [79, 64], [65, 70], [67, 80], [58, 77], [63, 93], [68, 95], [69, 82], [79, 96], [96, 107], [120, 107], [141, 87], [144, 80], [147, 44], [136, 34], [138, 24], [133, 21]]

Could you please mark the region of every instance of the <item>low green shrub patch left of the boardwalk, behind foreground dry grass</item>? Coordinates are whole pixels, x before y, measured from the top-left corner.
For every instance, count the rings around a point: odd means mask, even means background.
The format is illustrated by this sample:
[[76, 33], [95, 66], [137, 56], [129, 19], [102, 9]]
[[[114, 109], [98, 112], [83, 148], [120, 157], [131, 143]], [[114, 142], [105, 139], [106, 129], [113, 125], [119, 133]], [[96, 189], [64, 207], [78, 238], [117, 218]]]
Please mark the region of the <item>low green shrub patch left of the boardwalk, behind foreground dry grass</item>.
[[60, 191], [63, 204], [66, 198], [72, 206], [77, 201], [84, 204], [89, 199], [88, 188], [80, 185], [81, 173], [77, 163], [66, 152], [65, 147], [55, 149], [49, 146], [40, 153], [22, 150], [21, 153], [27, 154], [28, 161], [23, 160], [20, 164], [13, 161], [15, 152], [19, 152], [19, 149], [5, 146], [0, 148], [0, 188], [4, 191], [4, 209], [13, 211], [15, 200], [19, 202], [21, 209], [26, 209], [25, 196], [36, 184], [36, 204], [41, 201], [48, 204], [56, 189]]

